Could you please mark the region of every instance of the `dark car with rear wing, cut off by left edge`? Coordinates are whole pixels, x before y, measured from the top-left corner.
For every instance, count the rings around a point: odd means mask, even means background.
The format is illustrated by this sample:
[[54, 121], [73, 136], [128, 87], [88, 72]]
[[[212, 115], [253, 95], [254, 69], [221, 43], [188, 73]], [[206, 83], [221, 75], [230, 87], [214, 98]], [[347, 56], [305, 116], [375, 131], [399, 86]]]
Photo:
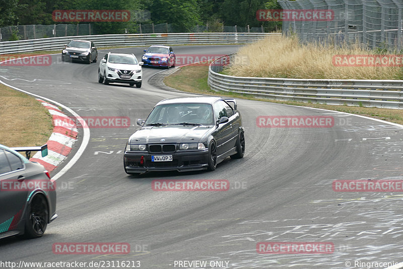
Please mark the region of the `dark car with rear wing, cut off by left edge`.
[[[18, 151], [44, 147], [15, 148]], [[0, 238], [41, 237], [56, 217], [56, 190], [49, 173], [16, 150], [0, 145]], [[46, 152], [46, 153], [45, 153]]]

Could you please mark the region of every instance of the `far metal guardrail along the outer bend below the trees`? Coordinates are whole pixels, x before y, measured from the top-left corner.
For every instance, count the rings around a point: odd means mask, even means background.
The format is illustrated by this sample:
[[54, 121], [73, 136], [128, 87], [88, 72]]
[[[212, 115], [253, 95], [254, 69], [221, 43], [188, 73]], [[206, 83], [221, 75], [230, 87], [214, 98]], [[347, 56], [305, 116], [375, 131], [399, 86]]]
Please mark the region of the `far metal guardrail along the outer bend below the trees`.
[[72, 39], [91, 40], [96, 46], [137, 46], [151, 44], [231, 44], [252, 43], [281, 33], [161, 33], [51, 37], [0, 42], [0, 53], [62, 49]]

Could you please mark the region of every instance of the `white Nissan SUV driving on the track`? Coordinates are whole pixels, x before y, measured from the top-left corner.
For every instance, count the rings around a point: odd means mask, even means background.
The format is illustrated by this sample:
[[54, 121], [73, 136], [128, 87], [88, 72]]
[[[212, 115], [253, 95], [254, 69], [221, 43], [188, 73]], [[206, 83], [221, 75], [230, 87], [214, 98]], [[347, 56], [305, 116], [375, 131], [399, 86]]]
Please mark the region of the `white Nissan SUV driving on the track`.
[[130, 86], [142, 86], [142, 66], [133, 54], [109, 52], [99, 63], [98, 82], [104, 83], [128, 83]]

